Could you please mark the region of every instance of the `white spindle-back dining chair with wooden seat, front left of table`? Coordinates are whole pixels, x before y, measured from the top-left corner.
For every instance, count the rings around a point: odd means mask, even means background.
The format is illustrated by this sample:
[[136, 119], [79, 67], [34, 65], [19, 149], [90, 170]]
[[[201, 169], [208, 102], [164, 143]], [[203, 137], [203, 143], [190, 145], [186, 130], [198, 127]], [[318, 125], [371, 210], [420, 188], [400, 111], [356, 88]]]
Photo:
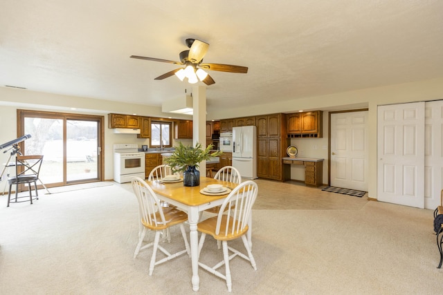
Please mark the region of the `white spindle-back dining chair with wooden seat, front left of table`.
[[[185, 227], [183, 227], [183, 222], [188, 220], [188, 214], [175, 208], [163, 208], [154, 191], [152, 191], [145, 180], [142, 180], [141, 178], [132, 179], [132, 189], [134, 189], [134, 193], [138, 200], [139, 212], [141, 214], [141, 224], [144, 227], [142, 234], [139, 235], [138, 245], [136, 247], [136, 251], [134, 252], [134, 258], [136, 258], [141, 249], [152, 247], [149, 272], [150, 276], [152, 276], [154, 267], [156, 265], [165, 263], [166, 261], [177, 258], [185, 253], [188, 253], [188, 256], [190, 256], [188, 238], [186, 238]], [[183, 236], [183, 240], [185, 242], [185, 249], [181, 249], [174, 254], [170, 254], [169, 251], [159, 245], [159, 241], [162, 231], [169, 229], [174, 225], [179, 225], [180, 227], [181, 236]], [[154, 242], [149, 242], [146, 245], [143, 245], [143, 240], [148, 229], [155, 231]], [[158, 249], [165, 254], [165, 257], [160, 260], [156, 260]]]

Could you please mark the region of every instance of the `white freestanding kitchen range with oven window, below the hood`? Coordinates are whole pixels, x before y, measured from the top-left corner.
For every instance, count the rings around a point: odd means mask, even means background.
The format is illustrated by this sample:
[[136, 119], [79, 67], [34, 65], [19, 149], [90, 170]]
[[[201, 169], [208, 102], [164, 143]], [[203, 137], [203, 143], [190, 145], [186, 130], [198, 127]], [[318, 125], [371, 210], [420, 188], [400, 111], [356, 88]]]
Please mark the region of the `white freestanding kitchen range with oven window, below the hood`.
[[131, 182], [134, 177], [145, 179], [145, 153], [137, 144], [114, 144], [114, 181]]

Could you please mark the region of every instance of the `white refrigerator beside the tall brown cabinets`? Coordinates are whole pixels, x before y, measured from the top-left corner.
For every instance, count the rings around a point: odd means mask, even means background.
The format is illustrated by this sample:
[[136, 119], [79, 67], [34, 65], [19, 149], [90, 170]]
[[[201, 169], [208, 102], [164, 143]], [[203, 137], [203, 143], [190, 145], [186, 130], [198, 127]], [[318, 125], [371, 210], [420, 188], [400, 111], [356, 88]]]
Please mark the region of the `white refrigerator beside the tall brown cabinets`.
[[255, 126], [233, 128], [233, 166], [242, 178], [257, 178], [257, 129]]

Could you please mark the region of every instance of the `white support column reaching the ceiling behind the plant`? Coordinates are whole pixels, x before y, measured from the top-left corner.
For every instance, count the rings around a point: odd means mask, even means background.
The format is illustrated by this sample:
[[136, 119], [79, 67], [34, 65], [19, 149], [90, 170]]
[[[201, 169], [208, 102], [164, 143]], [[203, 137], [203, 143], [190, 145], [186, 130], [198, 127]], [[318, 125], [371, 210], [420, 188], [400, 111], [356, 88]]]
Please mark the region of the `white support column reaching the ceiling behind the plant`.
[[[206, 86], [192, 87], [192, 143], [206, 148]], [[206, 161], [199, 164], [200, 176], [206, 176]]]

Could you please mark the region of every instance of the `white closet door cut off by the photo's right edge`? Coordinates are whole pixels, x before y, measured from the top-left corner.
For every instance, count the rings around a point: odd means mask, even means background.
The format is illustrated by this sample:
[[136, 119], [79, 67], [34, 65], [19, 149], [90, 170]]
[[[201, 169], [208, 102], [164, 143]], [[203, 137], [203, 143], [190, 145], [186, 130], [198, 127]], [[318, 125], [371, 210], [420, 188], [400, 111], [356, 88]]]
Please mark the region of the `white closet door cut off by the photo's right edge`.
[[426, 102], [424, 127], [424, 207], [440, 205], [443, 189], [443, 101]]

